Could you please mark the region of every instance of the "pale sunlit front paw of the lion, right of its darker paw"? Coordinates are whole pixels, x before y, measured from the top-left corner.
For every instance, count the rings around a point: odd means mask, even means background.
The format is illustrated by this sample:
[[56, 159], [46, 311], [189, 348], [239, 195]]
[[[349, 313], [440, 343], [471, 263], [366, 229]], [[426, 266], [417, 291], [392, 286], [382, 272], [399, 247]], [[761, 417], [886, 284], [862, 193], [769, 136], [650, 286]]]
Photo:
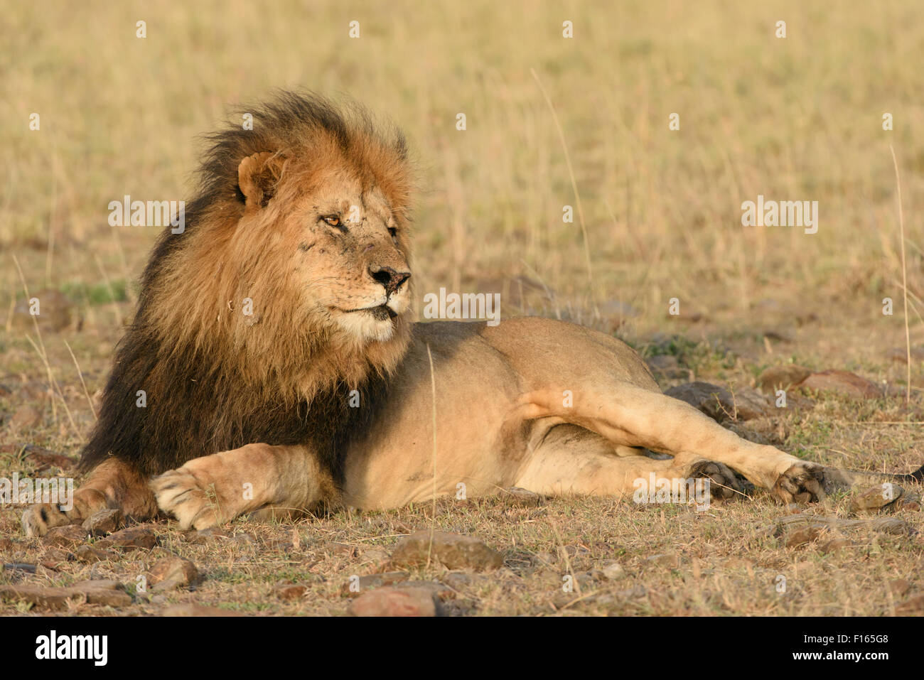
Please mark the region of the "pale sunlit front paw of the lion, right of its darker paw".
[[209, 528], [225, 522], [222, 502], [215, 485], [189, 465], [168, 470], [151, 480], [157, 505], [179, 522], [179, 528]]

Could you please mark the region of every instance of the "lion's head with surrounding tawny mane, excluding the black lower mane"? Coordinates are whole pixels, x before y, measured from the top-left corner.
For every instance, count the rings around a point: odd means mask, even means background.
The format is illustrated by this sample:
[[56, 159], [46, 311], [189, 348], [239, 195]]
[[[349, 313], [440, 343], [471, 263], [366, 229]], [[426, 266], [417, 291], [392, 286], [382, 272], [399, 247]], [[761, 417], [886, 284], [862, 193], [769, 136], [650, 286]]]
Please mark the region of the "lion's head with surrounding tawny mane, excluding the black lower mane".
[[230, 342], [258, 383], [271, 368], [349, 383], [367, 362], [392, 370], [411, 297], [403, 137], [318, 97], [287, 93], [251, 113], [252, 130], [212, 136], [192, 224], [164, 237], [152, 322], [196, 346]]

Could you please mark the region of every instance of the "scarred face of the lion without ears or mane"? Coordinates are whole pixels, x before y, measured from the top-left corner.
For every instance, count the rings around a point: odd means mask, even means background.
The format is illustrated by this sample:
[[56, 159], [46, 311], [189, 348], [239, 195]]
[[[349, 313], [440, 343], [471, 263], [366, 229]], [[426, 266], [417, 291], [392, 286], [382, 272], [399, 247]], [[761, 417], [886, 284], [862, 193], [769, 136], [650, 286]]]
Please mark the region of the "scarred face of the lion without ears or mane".
[[299, 284], [347, 334], [387, 341], [410, 307], [407, 225], [378, 188], [349, 176], [330, 179], [286, 217], [298, 234]]

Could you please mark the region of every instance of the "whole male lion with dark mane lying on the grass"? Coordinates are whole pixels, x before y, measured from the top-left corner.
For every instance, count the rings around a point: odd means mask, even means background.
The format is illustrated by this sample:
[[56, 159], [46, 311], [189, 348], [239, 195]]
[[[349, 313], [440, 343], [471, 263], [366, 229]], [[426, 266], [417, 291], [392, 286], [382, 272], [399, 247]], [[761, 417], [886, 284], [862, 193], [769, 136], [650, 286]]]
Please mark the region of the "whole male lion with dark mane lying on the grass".
[[823, 495], [824, 468], [662, 395], [608, 335], [412, 323], [405, 141], [362, 110], [286, 93], [211, 140], [185, 231], [164, 231], [143, 274], [89, 477], [71, 510], [31, 506], [30, 535], [105, 507], [201, 529], [396, 507], [460, 481], [626, 494], [655, 473], [730, 495], [737, 472], [784, 502]]

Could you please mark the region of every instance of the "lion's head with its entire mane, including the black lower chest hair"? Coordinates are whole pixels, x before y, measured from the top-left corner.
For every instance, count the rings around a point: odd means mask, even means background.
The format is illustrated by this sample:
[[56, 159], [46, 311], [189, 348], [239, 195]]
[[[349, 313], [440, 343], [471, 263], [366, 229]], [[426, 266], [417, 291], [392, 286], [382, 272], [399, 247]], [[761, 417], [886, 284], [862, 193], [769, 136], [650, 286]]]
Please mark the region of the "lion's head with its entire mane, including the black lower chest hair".
[[404, 138], [314, 95], [243, 113], [252, 129], [209, 138], [185, 231], [154, 249], [84, 468], [119, 455], [155, 472], [319, 427], [334, 441], [357, 417], [346, 391], [381, 387], [407, 351]]

